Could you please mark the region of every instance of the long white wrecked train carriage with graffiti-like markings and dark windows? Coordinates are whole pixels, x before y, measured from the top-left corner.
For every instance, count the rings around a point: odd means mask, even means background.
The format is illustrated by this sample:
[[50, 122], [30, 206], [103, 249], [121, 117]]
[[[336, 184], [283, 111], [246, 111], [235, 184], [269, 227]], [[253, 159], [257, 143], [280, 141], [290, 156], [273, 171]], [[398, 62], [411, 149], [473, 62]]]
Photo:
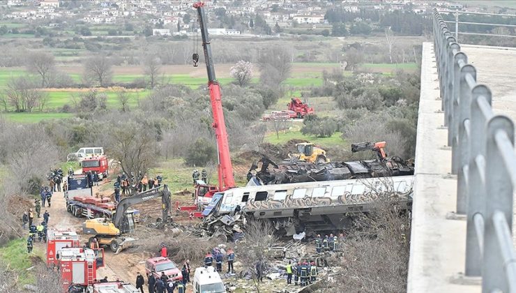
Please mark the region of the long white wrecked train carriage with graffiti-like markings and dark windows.
[[272, 220], [287, 235], [342, 230], [354, 213], [371, 211], [381, 198], [411, 209], [412, 187], [413, 176], [248, 186], [216, 193], [203, 213], [205, 221], [219, 223], [216, 218], [225, 218], [225, 225], [231, 226], [227, 215], [241, 210], [245, 216]]

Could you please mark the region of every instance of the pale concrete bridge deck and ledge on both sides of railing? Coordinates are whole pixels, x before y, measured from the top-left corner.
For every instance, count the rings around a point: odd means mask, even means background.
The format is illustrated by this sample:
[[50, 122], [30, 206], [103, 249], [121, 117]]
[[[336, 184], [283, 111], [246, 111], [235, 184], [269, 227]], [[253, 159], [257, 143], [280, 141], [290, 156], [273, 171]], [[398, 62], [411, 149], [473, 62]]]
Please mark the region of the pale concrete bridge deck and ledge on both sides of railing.
[[[476, 67], [478, 82], [492, 90], [494, 113], [516, 121], [516, 48], [461, 47]], [[480, 292], [479, 280], [460, 278], [466, 221], [446, 218], [455, 211], [457, 179], [450, 174], [451, 148], [446, 147], [448, 130], [443, 127], [437, 78], [433, 44], [423, 43], [407, 292]]]

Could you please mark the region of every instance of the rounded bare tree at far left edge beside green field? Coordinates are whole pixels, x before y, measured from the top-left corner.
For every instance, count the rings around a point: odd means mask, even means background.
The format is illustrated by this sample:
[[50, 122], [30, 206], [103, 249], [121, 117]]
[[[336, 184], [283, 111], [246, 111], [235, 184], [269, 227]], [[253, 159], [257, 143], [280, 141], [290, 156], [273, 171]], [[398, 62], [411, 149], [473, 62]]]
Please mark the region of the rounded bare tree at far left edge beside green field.
[[44, 98], [43, 93], [36, 87], [36, 82], [29, 77], [11, 79], [5, 90], [9, 105], [15, 107], [16, 112], [31, 112]]

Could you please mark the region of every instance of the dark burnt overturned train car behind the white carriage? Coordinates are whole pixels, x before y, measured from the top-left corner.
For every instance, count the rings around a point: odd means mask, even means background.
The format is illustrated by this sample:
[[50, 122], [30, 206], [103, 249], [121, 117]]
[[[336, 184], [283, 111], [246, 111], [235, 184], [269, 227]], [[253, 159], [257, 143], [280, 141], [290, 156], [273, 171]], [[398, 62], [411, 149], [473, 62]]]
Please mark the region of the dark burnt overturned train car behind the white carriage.
[[360, 160], [324, 164], [293, 163], [276, 165], [267, 158], [260, 160], [261, 170], [255, 178], [259, 184], [299, 183], [413, 175], [413, 165], [399, 157], [384, 160]]

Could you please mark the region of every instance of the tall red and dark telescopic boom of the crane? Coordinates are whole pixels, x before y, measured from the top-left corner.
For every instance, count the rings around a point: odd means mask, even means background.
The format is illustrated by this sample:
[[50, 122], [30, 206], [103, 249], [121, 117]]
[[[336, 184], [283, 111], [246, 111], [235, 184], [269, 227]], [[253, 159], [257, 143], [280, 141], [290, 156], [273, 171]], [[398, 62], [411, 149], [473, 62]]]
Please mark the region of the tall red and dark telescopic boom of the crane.
[[206, 25], [207, 20], [206, 15], [204, 14], [204, 2], [195, 3], [194, 8], [197, 9], [199, 25], [201, 27], [202, 48], [204, 50], [206, 71], [208, 73], [208, 89], [210, 90], [211, 111], [213, 113], [212, 126], [215, 130], [215, 139], [217, 140], [218, 184], [219, 190], [222, 191], [235, 187], [235, 179], [233, 177], [233, 166], [229, 155], [229, 142], [227, 141], [224, 112], [222, 111], [220, 84], [215, 77], [213, 58], [211, 57], [210, 39], [208, 36], [208, 27]]

